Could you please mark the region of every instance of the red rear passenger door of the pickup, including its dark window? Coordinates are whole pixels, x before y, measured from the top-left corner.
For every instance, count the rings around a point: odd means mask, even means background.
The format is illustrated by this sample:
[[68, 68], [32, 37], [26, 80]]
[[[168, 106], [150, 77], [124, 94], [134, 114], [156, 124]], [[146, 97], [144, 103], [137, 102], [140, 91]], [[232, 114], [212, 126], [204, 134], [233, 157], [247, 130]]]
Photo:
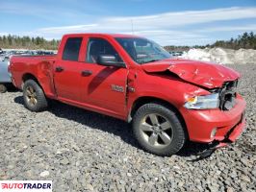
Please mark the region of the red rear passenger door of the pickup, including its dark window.
[[60, 100], [81, 102], [81, 71], [84, 63], [80, 61], [82, 36], [72, 36], [63, 39], [64, 49], [54, 64], [55, 88]]

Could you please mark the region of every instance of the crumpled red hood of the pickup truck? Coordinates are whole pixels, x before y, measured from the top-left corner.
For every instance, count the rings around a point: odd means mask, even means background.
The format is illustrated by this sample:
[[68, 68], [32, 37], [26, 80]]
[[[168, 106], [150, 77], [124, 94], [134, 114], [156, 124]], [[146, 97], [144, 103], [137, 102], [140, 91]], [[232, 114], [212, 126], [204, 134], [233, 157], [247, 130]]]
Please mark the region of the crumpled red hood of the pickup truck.
[[224, 82], [240, 78], [240, 74], [221, 64], [199, 60], [160, 60], [141, 65], [147, 73], [175, 73], [181, 79], [207, 88], [220, 87]]

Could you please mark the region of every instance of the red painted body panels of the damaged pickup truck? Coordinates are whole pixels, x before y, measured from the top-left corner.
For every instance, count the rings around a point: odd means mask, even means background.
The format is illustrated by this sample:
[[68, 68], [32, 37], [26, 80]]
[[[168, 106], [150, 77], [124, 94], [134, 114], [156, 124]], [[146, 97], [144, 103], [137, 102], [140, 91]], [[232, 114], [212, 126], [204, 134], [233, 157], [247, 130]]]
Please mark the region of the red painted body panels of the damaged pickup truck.
[[[83, 37], [78, 61], [62, 60], [65, 41], [70, 36]], [[85, 60], [89, 37], [108, 40], [126, 63], [126, 68], [87, 63]], [[56, 57], [13, 57], [10, 66], [13, 83], [22, 88], [22, 77], [31, 74], [37, 78], [47, 97], [123, 120], [128, 120], [133, 105], [141, 97], [161, 99], [179, 110], [193, 141], [221, 141], [236, 126], [230, 135], [230, 140], [234, 141], [243, 131], [244, 120], [239, 122], [245, 102], [240, 95], [237, 97], [237, 105], [228, 111], [183, 107], [188, 97], [210, 94], [209, 88], [220, 87], [224, 82], [240, 78], [236, 71], [223, 65], [197, 60], [169, 59], [140, 65], [129, 57], [115, 41], [115, 37], [135, 36], [65, 35]], [[64, 71], [56, 72], [57, 66], [62, 66]], [[83, 70], [90, 70], [92, 75], [83, 77]], [[123, 92], [116, 92], [112, 90], [112, 84], [132, 87], [135, 91], [124, 88]], [[211, 138], [210, 133], [214, 128], [218, 128], [218, 131]]]

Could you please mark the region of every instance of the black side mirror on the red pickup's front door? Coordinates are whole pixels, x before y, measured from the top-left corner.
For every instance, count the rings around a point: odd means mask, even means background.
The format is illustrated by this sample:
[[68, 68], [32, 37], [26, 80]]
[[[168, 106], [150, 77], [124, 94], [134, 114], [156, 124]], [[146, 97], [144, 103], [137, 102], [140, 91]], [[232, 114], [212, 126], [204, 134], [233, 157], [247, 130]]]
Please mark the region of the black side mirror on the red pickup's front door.
[[100, 55], [97, 59], [97, 63], [103, 66], [126, 67], [123, 61], [117, 61], [115, 56], [112, 55]]

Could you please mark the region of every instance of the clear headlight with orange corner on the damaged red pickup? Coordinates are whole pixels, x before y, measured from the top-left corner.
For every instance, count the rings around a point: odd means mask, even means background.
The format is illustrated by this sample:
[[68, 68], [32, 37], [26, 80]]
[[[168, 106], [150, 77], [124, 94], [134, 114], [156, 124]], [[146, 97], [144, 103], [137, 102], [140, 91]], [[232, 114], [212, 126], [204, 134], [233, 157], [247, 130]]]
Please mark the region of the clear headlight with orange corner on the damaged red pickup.
[[191, 109], [207, 109], [207, 108], [218, 108], [219, 99], [218, 93], [214, 93], [211, 95], [203, 95], [203, 96], [195, 96], [189, 98], [185, 103], [185, 108]]

